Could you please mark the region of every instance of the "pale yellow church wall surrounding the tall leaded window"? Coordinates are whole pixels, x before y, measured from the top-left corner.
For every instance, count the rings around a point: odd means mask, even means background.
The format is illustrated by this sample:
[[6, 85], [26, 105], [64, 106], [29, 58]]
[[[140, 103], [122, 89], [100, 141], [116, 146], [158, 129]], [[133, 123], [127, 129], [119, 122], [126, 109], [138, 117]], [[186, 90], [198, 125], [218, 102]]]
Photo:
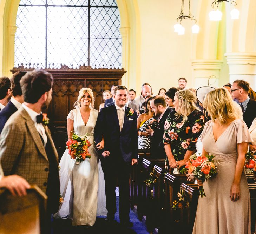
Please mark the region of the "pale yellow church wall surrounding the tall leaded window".
[[[225, 15], [225, 11], [230, 12], [230, 7], [222, 4], [223, 20], [210, 22], [208, 13], [212, 0], [193, 0], [191, 13], [198, 20], [200, 32], [192, 34], [192, 22], [184, 20], [185, 35], [177, 35], [173, 25], [180, 13], [180, 1], [117, 0], [121, 18], [122, 66], [127, 70], [122, 83], [139, 92], [141, 84], [148, 82], [156, 94], [162, 87], [177, 87], [179, 77], [188, 80], [188, 87], [195, 87], [204, 72], [204, 80], [216, 72], [219, 86], [229, 82], [230, 67], [225, 53], [255, 52], [255, 2], [237, 0], [241, 19], [234, 22]], [[188, 1], [184, 4], [184, 14], [187, 14]], [[0, 76], [9, 76], [14, 65], [18, 5], [19, 0], [0, 0]], [[193, 61], [197, 61], [199, 73], [195, 73]]]

